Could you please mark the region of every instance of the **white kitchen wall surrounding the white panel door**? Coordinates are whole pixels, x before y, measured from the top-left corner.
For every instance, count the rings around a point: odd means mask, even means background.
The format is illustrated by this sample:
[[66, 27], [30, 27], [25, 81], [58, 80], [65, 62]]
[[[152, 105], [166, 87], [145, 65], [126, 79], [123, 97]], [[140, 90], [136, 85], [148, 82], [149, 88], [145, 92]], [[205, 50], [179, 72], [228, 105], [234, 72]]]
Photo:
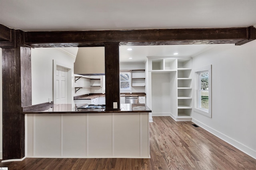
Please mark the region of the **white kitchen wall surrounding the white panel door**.
[[32, 105], [48, 102], [48, 98], [53, 100], [53, 60], [72, 68], [73, 87], [74, 57], [56, 48], [31, 49]]

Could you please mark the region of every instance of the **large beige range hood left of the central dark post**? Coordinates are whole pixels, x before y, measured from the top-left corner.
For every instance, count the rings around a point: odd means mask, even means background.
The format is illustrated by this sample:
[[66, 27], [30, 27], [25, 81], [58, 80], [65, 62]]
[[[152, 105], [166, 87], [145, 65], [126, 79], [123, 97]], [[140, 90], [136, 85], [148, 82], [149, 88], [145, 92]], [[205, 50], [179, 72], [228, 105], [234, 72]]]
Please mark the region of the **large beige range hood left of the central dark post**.
[[105, 47], [79, 47], [74, 63], [74, 74], [104, 75]]

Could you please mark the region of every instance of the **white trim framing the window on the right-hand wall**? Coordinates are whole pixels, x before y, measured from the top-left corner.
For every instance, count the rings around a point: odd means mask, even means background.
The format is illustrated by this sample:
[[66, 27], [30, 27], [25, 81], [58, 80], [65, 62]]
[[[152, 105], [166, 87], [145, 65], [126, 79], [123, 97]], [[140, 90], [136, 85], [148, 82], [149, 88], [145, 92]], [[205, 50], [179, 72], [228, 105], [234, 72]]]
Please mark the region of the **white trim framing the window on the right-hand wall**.
[[[208, 75], [209, 75], [209, 78], [208, 78], [208, 92], [209, 92], [209, 97], [208, 97], [208, 104], [209, 104], [209, 108], [208, 110], [207, 109], [203, 109], [203, 108], [200, 108], [198, 107], [199, 106], [199, 80], [201, 80], [199, 78], [200, 76], [200, 73], [201, 72], [206, 72], [208, 71]], [[196, 77], [196, 80], [195, 80], [195, 91], [194, 91], [194, 111], [198, 112], [198, 113], [201, 113], [203, 115], [206, 115], [208, 117], [212, 117], [212, 65], [207, 65], [207, 66], [204, 66], [204, 67], [201, 67], [201, 68], [197, 68], [194, 70], [194, 74]]]

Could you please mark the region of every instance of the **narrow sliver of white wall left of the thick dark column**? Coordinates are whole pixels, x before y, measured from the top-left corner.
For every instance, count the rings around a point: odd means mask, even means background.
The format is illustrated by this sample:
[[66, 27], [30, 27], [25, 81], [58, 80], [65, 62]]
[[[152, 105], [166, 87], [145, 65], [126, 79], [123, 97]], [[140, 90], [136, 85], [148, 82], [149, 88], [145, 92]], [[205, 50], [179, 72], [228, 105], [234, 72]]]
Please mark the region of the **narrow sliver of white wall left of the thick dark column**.
[[[0, 89], [2, 89], [2, 49], [0, 48]], [[2, 155], [3, 155], [3, 103], [2, 103], [2, 98], [3, 98], [3, 94], [2, 94], [2, 90], [0, 90], [0, 98], [1, 98], [1, 102], [0, 102], [0, 159], [2, 159]]]

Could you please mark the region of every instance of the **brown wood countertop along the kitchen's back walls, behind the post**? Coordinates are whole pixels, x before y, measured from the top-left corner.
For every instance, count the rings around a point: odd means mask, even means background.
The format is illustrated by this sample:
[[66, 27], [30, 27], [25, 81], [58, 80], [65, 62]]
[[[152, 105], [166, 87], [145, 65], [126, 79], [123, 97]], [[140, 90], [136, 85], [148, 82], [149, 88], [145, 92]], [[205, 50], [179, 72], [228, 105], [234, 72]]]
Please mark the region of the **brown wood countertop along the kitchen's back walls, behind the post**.
[[[121, 97], [134, 97], [134, 96], [146, 96], [145, 93], [120, 93]], [[80, 95], [80, 96], [74, 96], [74, 100], [92, 100], [94, 98], [98, 98], [98, 97], [105, 97], [105, 94], [100, 94], [100, 93], [96, 93], [96, 94], [85, 94], [85, 95]]]

